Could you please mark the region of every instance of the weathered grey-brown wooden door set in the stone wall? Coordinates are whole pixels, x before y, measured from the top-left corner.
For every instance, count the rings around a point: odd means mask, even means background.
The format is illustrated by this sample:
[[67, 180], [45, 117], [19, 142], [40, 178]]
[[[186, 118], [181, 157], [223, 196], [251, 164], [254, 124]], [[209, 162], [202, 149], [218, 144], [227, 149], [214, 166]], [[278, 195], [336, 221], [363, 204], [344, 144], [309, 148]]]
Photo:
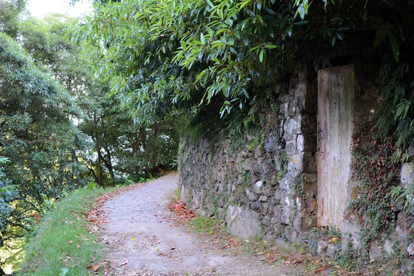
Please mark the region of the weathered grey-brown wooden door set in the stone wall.
[[351, 163], [353, 64], [317, 72], [317, 225], [342, 229]]

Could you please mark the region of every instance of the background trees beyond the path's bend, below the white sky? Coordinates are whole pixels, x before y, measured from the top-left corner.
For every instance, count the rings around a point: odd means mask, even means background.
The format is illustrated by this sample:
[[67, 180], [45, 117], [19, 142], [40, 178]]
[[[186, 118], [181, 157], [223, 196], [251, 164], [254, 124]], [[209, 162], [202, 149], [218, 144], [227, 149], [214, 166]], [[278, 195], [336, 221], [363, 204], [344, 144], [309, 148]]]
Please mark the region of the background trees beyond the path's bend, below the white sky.
[[50, 70], [81, 108], [81, 116], [74, 119], [88, 136], [90, 148], [79, 156], [90, 175], [97, 184], [106, 186], [126, 176], [140, 179], [161, 168], [175, 168], [176, 120], [183, 117], [172, 112], [133, 121], [117, 99], [108, 96], [108, 80], [97, 76], [99, 68], [106, 66], [102, 52], [86, 41], [74, 43], [75, 30], [75, 19], [52, 14], [43, 21], [23, 21], [19, 40], [38, 66]]

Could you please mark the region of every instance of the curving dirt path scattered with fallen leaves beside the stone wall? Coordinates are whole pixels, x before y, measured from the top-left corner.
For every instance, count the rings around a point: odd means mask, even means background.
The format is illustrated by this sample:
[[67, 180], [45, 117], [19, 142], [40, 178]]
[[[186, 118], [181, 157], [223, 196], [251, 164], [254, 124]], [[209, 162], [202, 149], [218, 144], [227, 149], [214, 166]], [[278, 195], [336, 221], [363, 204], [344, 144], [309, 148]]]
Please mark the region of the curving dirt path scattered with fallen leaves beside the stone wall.
[[166, 208], [175, 189], [177, 174], [171, 174], [106, 202], [101, 238], [112, 262], [106, 275], [298, 274], [286, 266], [270, 267], [254, 257], [213, 250], [207, 241], [176, 226]]

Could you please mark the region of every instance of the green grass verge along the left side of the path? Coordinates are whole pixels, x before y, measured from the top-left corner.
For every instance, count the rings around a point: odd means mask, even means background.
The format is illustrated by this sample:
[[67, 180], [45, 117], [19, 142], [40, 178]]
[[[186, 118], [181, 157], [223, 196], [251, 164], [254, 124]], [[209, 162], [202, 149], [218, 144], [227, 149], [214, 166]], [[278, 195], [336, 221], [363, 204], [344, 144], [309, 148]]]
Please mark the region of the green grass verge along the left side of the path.
[[88, 233], [85, 214], [103, 192], [76, 190], [59, 201], [26, 244], [26, 257], [18, 274], [90, 275], [86, 266], [103, 259], [106, 250], [96, 235]]

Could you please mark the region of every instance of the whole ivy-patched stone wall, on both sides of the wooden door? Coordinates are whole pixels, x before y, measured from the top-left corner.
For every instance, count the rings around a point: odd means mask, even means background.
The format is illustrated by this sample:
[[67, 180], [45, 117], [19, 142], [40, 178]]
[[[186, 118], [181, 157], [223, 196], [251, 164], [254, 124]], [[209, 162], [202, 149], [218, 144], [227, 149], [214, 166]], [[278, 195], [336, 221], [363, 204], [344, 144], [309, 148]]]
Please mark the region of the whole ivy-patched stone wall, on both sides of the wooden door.
[[[371, 120], [380, 105], [377, 89], [364, 81], [362, 67], [355, 66], [354, 124]], [[275, 89], [277, 101], [270, 103], [254, 128], [240, 134], [219, 132], [199, 139], [181, 139], [181, 199], [203, 215], [224, 219], [230, 232], [242, 238], [259, 235], [286, 239], [331, 257], [341, 249], [344, 252], [348, 242], [359, 247], [360, 227], [346, 212], [339, 229], [342, 246], [308, 233], [317, 226], [315, 79], [315, 75], [304, 71], [294, 75], [288, 86]], [[408, 162], [402, 164], [404, 189], [414, 182], [414, 146], [409, 153]], [[351, 180], [352, 173], [346, 184], [348, 199], [355, 198], [359, 185]], [[392, 254], [396, 242], [407, 244], [413, 220], [402, 210], [396, 217], [388, 234], [366, 248], [371, 258], [384, 252]], [[414, 244], [409, 246], [414, 255]]]

